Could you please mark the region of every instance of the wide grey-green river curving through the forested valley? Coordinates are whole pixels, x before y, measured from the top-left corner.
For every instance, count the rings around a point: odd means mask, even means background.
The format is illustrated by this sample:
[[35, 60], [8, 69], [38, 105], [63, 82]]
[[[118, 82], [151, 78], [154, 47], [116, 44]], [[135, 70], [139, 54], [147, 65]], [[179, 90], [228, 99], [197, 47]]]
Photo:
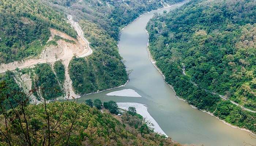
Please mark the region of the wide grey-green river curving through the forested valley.
[[[125, 87], [83, 96], [78, 102], [99, 98], [103, 102], [136, 102], [146, 104], [148, 112], [162, 130], [174, 141], [204, 146], [243, 146], [244, 141], [256, 143], [249, 132], [227, 126], [218, 119], [191, 108], [178, 100], [165, 83], [161, 74], [151, 64], [147, 54], [148, 37], [145, 27], [155, 12], [174, 9], [183, 3], [158, 9], [140, 16], [121, 32], [119, 51], [127, 69], [133, 69], [130, 81]], [[142, 97], [106, 96], [106, 93], [121, 89], [134, 89]]]

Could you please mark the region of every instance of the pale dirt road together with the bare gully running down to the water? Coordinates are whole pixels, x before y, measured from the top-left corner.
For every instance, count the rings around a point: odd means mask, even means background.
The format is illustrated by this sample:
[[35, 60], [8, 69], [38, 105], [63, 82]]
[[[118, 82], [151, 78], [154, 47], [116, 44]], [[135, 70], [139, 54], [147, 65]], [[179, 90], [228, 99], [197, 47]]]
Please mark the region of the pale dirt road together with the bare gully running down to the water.
[[33, 67], [36, 64], [50, 63], [51, 65], [58, 60], [62, 60], [65, 66], [65, 81], [64, 81], [64, 90], [67, 95], [71, 98], [79, 98], [79, 95], [76, 95], [72, 88], [72, 81], [68, 74], [68, 65], [73, 56], [76, 57], [86, 57], [93, 53], [93, 50], [90, 48], [90, 43], [83, 36], [83, 31], [77, 22], [72, 20], [72, 16], [68, 16], [69, 23], [77, 32], [77, 39], [70, 37], [69, 35], [50, 29], [51, 37], [48, 41], [53, 40], [54, 35], [58, 35], [64, 39], [72, 40], [75, 43], [68, 43], [60, 39], [57, 41], [57, 46], [46, 46], [45, 49], [37, 57], [28, 57], [22, 61], [14, 61], [8, 64], [0, 64], [0, 73], [4, 73], [7, 70], [15, 70]]

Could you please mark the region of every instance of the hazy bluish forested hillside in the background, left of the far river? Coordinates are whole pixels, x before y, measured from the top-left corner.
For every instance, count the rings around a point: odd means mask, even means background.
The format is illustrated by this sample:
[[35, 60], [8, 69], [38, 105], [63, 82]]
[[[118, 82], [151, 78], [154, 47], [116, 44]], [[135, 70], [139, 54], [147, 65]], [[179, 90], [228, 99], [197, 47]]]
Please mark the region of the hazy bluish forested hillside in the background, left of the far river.
[[77, 20], [88, 20], [118, 39], [124, 27], [139, 15], [182, 0], [46, 0], [56, 9], [66, 9]]

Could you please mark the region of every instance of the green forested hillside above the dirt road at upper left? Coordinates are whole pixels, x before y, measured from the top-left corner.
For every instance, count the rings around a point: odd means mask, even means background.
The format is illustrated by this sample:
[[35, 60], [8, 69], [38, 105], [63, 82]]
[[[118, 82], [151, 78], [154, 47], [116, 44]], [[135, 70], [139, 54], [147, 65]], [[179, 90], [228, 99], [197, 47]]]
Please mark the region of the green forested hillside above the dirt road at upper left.
[[76, 37], [64, 18], [64, 13], [39, 0], [1, 0], [0, 64], [40, 54], [50, 37], [49, 28]]

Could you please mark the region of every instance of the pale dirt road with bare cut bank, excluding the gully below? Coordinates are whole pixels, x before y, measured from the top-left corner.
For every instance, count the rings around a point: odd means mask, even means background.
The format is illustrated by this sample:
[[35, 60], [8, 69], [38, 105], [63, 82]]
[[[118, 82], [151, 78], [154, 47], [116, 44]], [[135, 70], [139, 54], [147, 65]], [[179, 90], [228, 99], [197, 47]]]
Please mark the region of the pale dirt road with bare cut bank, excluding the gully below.
[[[73, 40], [76, 42], [76, 45], [68, 44], [63, 40], [59, 40], [57, 42], [58, 43], [57, 47], [50, 47], [43, 50], [39, 58], [30, 58], [30, 59], [25, 59], [24, 61], [14, 61], [8, 64], [1, 64], [0, 73], [4, 73], [7, 70], [15, 70], [16, 68], [23, 69], [36, 64], [55, 62], [60, 59], [70, 60], [74, 55], [76, 55], [77, 57], [86, 57], [92, 54], [93, 50], [91, 50], [90, 48], [90, 43], [87, 41], [86, 38], [84, 38], [81, 27], [78, 25], [77, 22], [74, 22], [72, 20], [71, 15], [68, 16], [68, 20], [71, 23], [71, 26], [75, 28], [78, 34], [78, 40]], [[56, 30], [53, 30], [53, 31], [56, 31]], [[64, 36], [63, 38], [65, 39], [71, 39], [71, 37], [69, 36], [67, 37], [67, 35], [65, 35], [62, 32], [57, 32], [57, 33], [58, 35], [61, 34], [62, 35], [61, 37]], [[44, 51], [48, 52], [48, 54], [44, 55]], [[59, 52], [60, 52], [59, 55], [54, 55]]]

